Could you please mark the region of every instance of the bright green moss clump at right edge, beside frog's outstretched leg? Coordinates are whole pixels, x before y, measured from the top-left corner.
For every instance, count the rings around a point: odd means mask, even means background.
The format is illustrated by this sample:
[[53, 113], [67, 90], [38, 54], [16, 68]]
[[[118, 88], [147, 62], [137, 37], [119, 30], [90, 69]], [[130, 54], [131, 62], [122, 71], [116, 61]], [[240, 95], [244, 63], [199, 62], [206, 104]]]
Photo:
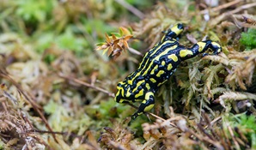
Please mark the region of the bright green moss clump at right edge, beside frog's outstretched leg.
[[246, 46], [247, 50], [256, 48], [256, 29], [249, 28], [247, 33], [241, 33], [240, 42]]

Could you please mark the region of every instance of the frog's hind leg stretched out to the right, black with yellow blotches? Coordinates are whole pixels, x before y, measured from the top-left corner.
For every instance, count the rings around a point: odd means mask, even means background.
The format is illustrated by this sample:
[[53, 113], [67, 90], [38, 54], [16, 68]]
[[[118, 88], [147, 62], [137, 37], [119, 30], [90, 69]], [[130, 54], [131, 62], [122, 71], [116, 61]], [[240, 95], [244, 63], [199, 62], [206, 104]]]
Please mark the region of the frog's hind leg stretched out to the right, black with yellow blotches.
[[[216, 55], [222, 51], [221, 45], [216, 42], [212, 42], [211, 40], [205, 40], [202, 42], [198, 42], [193, 45], [191, 48], [180, 50], [179, 56], [182, 60], [186, 60], [191, 57], [197, 56], [199, 53], [204, 53], [210, 49], [213, 51], [213, 54]], [[204, 53], [204, 56], [208, 55], [208, 53]]]

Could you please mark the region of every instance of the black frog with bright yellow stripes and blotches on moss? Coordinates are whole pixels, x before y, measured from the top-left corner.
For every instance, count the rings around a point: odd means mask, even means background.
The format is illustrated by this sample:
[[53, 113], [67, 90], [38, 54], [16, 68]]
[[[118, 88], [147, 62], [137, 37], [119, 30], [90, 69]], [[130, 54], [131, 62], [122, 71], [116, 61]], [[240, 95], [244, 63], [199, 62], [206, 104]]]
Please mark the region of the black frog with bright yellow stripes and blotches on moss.
[[[145, 53], [138, 68], [117, 84], [114, 98], [116, 102], [140, 102], [137, 111], [131, 116], [133, 119], [154, 107], [155, 93], [174, 74], [181, 62], [200, 53], [203, 53], [204, 57], [217, 55], [222, 51], [221, 45], [210, 39], [200, 41], [192, 47], [180, 45], [178, 36], [183, 31], [183, 23], [170, 27], [162, 39]], [[204, 53], [208, 49], [211, 53]]]

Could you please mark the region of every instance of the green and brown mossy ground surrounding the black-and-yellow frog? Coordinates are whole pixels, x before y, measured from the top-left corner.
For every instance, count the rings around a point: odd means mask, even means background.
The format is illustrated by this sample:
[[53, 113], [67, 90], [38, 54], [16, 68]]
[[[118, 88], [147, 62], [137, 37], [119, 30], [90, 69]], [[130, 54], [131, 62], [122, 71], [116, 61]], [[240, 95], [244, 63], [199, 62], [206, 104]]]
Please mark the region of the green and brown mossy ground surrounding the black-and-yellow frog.
[[[0, 149], [256, 148], [256, 4], [212, 2], [0, 0]], [[116, 84], [177, 22], [183, 45], [208, 37], [223, 52], [180, 65], [157, 93], [163, 120], [131, 121]], [[94, 51], [119, 27], [129, 49]]]

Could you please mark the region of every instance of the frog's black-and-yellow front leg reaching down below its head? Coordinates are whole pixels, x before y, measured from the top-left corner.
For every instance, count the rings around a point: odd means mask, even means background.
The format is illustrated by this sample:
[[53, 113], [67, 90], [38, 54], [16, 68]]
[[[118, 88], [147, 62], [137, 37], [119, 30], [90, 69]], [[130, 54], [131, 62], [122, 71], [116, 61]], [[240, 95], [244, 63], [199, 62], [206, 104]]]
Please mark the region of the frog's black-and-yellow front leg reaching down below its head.
[[154, 93], [148, 92], [145, 94], [145, 99], [139, 105], [137, 112], [135, 112], [131, 117], [135, 119], [137, 116], [142, 115], [145, 111], [150, 111], [155, 105]]

